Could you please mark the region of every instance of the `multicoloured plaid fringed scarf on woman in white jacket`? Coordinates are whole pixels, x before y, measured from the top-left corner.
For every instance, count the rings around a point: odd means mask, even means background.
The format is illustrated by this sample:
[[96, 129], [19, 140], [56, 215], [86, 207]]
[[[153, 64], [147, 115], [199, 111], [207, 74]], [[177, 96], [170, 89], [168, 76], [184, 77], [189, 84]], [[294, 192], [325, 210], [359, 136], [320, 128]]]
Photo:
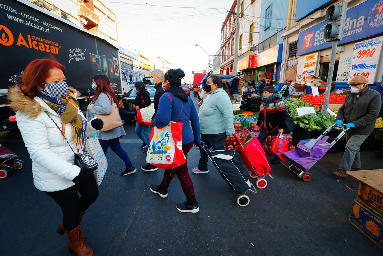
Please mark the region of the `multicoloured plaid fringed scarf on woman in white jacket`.
[[61, 118], [61, 133], [64, 140], [65, 125], [71, 123], [72, 138], [76, 142], [77, 151], [85, 151], [85, 128], [87, 121], [78, 114], [79, 102], [67, 94], [63, 98], [54, 97], [44, 91], [37, 91], [37, 96], [41, 98], [52, 110]]

